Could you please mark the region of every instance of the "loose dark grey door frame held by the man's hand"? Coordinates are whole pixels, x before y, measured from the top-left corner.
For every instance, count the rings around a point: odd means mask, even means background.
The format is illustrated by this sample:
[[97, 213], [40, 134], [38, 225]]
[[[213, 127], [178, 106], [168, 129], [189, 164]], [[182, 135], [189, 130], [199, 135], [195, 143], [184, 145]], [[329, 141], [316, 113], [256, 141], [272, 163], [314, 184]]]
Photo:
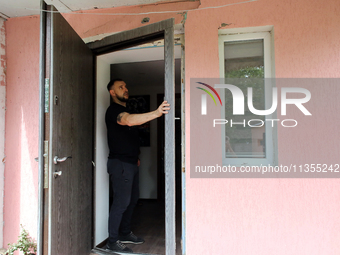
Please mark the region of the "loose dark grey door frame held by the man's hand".
[[[100, 41], [88, 43], [96, 58], [113, 51], [118, 51], [147, 42], [164, 39], [165, 76], [164, 94], [170, 105], [175, 105], [175, 57], [174, 57], [175, 19], [167, 19], [145, 27], [123, 31]], [[175, 114], [170, 111], [165, 115], [165, 252], [176, 253], [176, 215], [175, 215]]]

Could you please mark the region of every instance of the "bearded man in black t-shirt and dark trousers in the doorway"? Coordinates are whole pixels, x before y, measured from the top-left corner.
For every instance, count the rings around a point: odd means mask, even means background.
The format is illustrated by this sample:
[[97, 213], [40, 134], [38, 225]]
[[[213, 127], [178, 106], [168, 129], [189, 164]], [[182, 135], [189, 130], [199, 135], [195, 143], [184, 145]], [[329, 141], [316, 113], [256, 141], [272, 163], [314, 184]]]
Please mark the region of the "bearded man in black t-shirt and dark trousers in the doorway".
[[134, 126], [167, 114], [170, 105], [164, 101], [155, 111], [132, 114], [126, 108], [129, 99], [126, 83], [122, 79], [111, 80], [107, 89], [113, 100], [105, 115], [110, 150], [107, 171], [113, 188], [107, 249], [132, 252], [125, 243], [144, 243], [130, 228], [133, 209], [139, 199], [139, 137]]

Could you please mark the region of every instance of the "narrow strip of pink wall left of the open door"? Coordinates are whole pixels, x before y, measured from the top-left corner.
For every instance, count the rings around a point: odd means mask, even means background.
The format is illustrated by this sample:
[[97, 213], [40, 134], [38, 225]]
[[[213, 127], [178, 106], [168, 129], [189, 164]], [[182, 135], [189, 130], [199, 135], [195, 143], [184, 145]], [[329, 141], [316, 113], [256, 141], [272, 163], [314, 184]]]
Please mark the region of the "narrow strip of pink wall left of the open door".
[[39, 18], [9, 19], [6, 31], [4, 246], [17, 240], [20, 224], [37, 232]]

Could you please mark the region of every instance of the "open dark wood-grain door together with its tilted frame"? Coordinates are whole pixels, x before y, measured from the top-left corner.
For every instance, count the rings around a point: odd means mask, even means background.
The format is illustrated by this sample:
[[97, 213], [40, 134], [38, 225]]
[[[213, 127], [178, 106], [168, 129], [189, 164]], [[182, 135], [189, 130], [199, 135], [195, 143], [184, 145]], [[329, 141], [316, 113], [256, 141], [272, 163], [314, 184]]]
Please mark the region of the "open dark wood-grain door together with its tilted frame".
[[[43, 117], [47, 120], [45, 140], [49, 141], [49, 184], [45, 187], [48, 227], [45, 226], [44, 231], [48, 233], [49, 255], [90, 254], [93, 247], [94, 56], [164, 38], [165, 98], [174, 107], [174, 19], [86, 45], [53, 6], [48, 8], [51, 12], [46, 16], [44, 75], [49, 79], [50, 96], [49, 103], [45, 98], [45, 107], [48, 104], [49, 110]], [[174, 111], [170, 111], [165, 116], [168, 255], [175, 254], [176, 249], [174, 123]], [[39, 158], [43, 158], [42, 152]], [[42, 246], [41, 240], [38, 246]]]

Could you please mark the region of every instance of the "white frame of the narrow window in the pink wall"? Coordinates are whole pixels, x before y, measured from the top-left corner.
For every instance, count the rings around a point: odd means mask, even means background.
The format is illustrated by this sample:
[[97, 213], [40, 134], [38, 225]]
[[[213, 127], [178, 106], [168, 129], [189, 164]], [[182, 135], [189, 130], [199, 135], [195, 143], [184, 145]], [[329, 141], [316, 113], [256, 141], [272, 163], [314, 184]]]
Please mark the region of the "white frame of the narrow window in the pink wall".
[[[274, 78], [274, 49], [273, 49], [273, 27], [255, 27], [255, 28], [240, 28], [240, 29], [224, 29], [219, 32], [219, 66], [220, 77], [225, 77], [225, 59], [224, 59], [224, 43], [232, 41], [245, 41], [263, 39], [264, 45], [264, 77]], [[273, 81], [274, 79], [271, 79]], [[265, 90], [265, 109], [269, 109], [272, 103], [272, 90], [275, 86], [274, 82], [268, 84], [269, 79], [266, 80]], [[221, 89], [220, 95], [222, 101], [225, 101], [225, 91]], [[221, 111], [222, 119], [225, 119], [225, 108], [222, 107]], [[276, 112], [270, 116], [266, 116], [268, 119], [277, 119]], [[222, 127], [222, 163], [223, 165], [232, 166], [244, 166], [244, 165], [277, 165], [277, 122], [274, 127], [271, 124], [265, 125], [265, 158], [226, 158], [225, 148], [225, 131], [227, 125], [221, 125]]]

